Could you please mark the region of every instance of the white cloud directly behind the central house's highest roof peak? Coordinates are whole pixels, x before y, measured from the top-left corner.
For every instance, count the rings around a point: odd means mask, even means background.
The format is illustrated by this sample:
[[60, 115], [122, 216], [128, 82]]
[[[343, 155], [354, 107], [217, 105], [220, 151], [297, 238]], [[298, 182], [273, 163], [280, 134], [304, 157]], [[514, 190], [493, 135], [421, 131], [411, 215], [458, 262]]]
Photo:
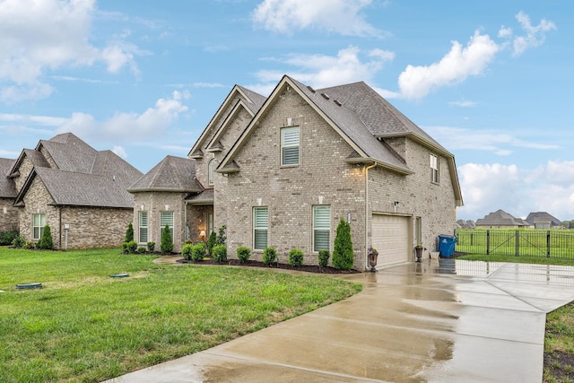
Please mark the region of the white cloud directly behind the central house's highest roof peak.
[[[319, 89], [342, 83], [369, 81], [394, 57], [389, 51], [374, 49], [363, 52], [360, 48], [351, 46], [339, 50], [336, 56], [292, 54], [279, 59], [267, 57], [265, 60], [298, 67], [299, 69], [287, 73], [300, 82]], [[257, 79], [263, 84], [251, 85], [249, 89], [269, 94], [284, 73], [283, 70], [259, 71]]]

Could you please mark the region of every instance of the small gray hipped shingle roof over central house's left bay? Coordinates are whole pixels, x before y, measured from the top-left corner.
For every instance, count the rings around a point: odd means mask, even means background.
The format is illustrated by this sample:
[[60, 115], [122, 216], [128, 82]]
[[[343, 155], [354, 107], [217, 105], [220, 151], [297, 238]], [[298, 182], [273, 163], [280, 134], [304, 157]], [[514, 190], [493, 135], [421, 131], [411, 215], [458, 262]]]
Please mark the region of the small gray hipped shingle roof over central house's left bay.
[[132, 193], [152, 190], [200, 193], [203, 187], [196, 181], [195, 160], [169, 155], [135, 181], [128, 190]]

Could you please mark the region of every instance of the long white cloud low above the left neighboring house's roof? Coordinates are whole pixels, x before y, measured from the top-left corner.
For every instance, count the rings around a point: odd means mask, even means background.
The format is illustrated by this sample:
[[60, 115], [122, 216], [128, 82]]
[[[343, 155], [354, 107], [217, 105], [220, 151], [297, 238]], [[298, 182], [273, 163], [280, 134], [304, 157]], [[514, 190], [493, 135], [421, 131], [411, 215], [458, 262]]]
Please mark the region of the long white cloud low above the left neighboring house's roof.
[[170, 99], [157, 100], [155, 106], [143, 113], [118, 113], [106, 121], [98, 122], [91, 115], [76, 112], [57, 133], [74, 132], [86, 139], [108, 141], [133, 140], [135, 138], [158, 137], [165, 133], [179, 114], [187, 111], [183, 100], [187, 92], [174, 91]]

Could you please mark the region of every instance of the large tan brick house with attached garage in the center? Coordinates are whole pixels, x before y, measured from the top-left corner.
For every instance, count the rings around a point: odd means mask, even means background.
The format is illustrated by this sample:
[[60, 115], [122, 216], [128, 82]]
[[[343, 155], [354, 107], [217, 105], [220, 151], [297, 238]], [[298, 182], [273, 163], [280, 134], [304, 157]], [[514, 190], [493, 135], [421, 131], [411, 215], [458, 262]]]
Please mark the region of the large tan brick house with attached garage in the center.
[[180, 188], [176, 204], [175, 190], [165, 203], [156, 195], [150, 212], [146, 198], [158, 191], [129, 189], [135, 226], [140, 211], [148, 228], [173, 213], [177, 249], [187, 232], [196, 241], [226, 225], [229, 257], [246, 246], [261, 259], [274, 247], [286, 262], [300, 248], [317, 264], [343, 218], [362, 271], [370, 247], [378, 265], [411, 261], [418, 243], [431, 248], [454, 231], [462, 205], [453, 154], [362, 82], [316, 91], [284, 76], [266, 99], [235, 86], [188, 156], [201, 191]]

